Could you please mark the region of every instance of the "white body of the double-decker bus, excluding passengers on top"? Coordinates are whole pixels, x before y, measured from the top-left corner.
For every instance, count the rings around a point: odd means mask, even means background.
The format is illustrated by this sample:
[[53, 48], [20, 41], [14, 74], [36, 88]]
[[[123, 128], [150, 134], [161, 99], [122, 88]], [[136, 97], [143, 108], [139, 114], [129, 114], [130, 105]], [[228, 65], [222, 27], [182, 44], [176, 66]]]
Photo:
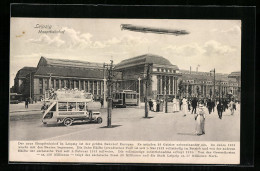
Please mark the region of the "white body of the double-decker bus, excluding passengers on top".
[[87, 102], [86, 100], [53, 100], [47, 110], [44, 111], [43, 124], [64, 124], [71, 126], [75, 122], [102, 123], [99, 102]]

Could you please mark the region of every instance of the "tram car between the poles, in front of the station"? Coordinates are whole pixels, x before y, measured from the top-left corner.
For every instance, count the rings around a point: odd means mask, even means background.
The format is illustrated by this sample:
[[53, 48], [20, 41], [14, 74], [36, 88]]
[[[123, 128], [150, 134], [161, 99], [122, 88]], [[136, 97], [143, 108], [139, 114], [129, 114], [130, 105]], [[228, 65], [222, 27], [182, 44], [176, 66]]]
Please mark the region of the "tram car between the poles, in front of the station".
[[114, 107], [137, 106], [138, 93], [133, 90], [122, 90], [112, 93]]

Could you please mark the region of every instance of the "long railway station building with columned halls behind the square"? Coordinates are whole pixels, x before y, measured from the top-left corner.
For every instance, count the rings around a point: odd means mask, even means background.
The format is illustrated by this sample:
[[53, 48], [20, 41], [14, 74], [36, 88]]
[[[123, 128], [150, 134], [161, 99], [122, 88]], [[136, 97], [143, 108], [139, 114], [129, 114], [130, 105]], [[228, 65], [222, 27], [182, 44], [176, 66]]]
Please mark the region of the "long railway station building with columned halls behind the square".
[[[210, 72], [180, 70], [162, 56], [145, 54], [121, 61], [113, 67], [112, 91], [134, 90], [144, 101], [145, 82], [149, 68], [148, 98], [165, 95], [186, 97], [212, 97], [213, 77]], [[216, 73], [215, 96], [221, 93], [240, 98], [240, 72]], [[95, 99], [105, 98], [106, 68], [102, 63], [41, 57], [37, 67], [24, 67], [15, 77], [14, 91], [24, 98], [44, 98], [49, 89], [79, 89], [90, 92]], [[224, 93], [224, 94], [223, 94]]]

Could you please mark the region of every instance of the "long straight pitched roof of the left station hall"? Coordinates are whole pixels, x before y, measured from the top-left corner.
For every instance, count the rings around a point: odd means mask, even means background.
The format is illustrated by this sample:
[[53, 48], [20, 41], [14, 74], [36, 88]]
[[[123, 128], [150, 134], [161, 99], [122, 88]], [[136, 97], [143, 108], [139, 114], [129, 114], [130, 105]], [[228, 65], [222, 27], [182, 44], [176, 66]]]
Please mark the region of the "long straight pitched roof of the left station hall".
[[103, 63], [41, 57], [38, 66], [62, 66], [74, 68], [103, 68]]

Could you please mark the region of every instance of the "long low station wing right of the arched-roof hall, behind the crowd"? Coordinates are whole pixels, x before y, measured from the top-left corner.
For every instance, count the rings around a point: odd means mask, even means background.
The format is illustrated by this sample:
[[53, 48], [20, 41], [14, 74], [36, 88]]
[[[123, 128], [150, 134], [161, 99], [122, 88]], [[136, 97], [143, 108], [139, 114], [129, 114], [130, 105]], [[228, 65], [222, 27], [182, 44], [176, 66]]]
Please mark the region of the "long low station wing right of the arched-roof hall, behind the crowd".
[[180, 73], [182, 74], [182, 77], [179, 83], [179, 90], [181, 89], [181, 93], [186, 97], [234, 97], [236, 100], [240, 99], [240, 82], [238, 82], [237, 80], [240, 79], [238, 78], [240, 77], [240, 75], [237, 75], [237, 78], [235, 78], [231, 76], [232, 73], [216, 73], [214, 79], [214, 75], [212, 72], [180, 70]]

